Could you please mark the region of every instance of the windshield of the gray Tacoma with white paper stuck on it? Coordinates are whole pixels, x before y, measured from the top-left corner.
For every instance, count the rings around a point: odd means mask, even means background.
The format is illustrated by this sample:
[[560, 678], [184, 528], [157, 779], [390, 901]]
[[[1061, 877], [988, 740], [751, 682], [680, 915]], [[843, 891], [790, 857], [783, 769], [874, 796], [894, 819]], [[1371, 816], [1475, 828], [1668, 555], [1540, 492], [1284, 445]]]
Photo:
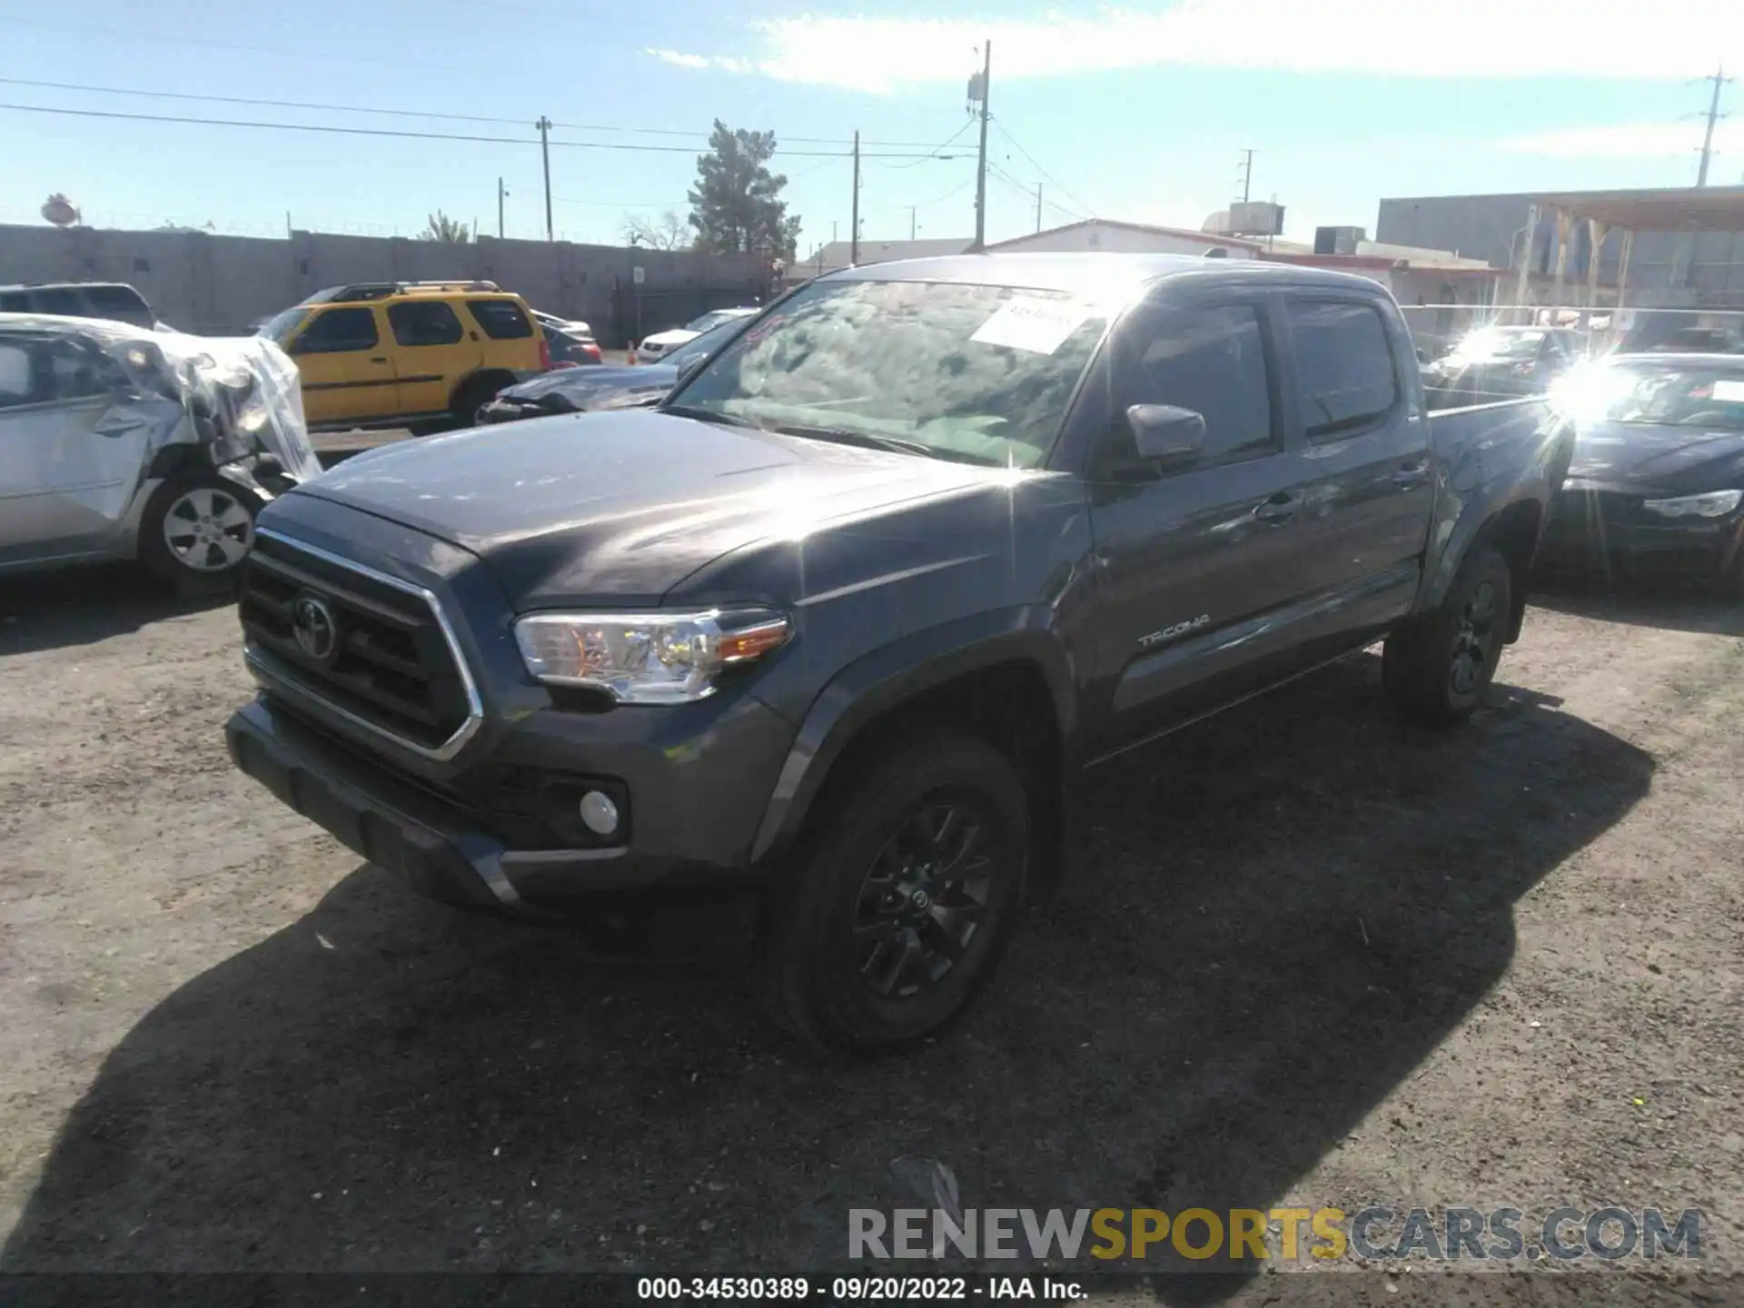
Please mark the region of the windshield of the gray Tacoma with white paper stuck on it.
[[1062, 291], [813, 283], [673, 399], [773, 431], [1036, 467], [1106, 323], [1106, 309]]

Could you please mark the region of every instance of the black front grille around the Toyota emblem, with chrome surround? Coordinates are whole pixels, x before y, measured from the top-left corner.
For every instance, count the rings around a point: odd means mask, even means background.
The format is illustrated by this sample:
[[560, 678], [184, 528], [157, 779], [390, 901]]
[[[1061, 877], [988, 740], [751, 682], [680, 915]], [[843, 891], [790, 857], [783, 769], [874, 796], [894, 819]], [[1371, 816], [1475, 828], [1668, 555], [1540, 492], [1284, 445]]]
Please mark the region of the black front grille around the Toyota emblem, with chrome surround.
[[[324, 657], [296, 638], [295, 614], [305, 598], [331, 614]], [[249, 644], [270, 659], [269, 671], [368, 727], [446, 757], [476, 726], [466, 670], [417, 588], [260, 532], [237, 607]]]

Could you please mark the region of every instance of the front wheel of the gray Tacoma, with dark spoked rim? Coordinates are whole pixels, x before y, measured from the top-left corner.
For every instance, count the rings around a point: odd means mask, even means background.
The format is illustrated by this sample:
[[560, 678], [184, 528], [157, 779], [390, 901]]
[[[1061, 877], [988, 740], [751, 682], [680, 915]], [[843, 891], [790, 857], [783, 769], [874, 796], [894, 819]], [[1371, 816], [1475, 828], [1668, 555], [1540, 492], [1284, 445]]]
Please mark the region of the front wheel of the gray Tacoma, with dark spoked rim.
[[1003, 753], [956, 732], [882, 748], [767, 893], [771, 1017], [825, 1055], [893, 1053], [938, 1032], [1010, 944], [1029, 853], [1024, 783]]

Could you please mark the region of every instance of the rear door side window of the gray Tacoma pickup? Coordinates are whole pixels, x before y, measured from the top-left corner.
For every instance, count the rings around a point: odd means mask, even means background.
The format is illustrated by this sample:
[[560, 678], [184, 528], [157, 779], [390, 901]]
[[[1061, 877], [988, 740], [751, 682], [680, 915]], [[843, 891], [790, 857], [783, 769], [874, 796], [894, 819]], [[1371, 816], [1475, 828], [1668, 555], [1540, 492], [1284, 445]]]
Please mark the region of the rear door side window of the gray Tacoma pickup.
[[1399, 403], [1399, 378], [1380, 312], [1348, 300], [1298, 300], [1287, 312], [1308, 439], [1334, 439], [1385, 419]]

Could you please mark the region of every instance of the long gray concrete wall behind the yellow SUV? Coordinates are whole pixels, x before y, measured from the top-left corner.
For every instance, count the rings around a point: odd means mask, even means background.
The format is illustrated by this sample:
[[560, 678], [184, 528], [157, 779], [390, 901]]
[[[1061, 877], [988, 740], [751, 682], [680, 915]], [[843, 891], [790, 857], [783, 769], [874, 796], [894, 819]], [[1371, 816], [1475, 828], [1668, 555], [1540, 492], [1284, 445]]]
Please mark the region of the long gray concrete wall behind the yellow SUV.
[[[644, 283], [635, 286], [633, 269]], [[0, 225], [0, 284], [124, 281], [157, 316], [202, 335], [241, 333], [258, 317], [352, 281], [483, 277], [535, 309], [593, 324], [607, 345], [678, 326], [706, 309], [767, 295], [752, 255], [577, 246], [567, 241], [434, 241], [293, 232], [284, 241], [206, 232], [110, 232]]]

